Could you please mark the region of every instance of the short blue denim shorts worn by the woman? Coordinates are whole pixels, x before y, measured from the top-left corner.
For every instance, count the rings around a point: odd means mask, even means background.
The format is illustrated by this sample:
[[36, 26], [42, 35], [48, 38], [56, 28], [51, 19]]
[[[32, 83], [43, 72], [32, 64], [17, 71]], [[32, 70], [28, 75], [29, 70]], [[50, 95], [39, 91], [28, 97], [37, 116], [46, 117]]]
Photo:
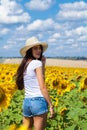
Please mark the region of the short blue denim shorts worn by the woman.
[[32, 117], [48, 112], [48, 103], [44, 97], [25, 98], [23, 116]]

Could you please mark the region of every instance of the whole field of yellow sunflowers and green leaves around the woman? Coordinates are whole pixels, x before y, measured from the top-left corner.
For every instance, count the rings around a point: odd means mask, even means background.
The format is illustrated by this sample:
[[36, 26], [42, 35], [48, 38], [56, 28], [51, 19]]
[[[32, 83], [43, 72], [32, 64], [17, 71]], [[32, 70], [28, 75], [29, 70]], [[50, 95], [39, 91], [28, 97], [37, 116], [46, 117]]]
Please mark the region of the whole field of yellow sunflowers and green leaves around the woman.
[[[18, 64], [0, 64], [0, 130], [26, 130], [22, 126], [24, 90], [18, 90]], [[45, 83], [55, 117], [45, 130], [87, 130], [87, 68], [45, 67]]]

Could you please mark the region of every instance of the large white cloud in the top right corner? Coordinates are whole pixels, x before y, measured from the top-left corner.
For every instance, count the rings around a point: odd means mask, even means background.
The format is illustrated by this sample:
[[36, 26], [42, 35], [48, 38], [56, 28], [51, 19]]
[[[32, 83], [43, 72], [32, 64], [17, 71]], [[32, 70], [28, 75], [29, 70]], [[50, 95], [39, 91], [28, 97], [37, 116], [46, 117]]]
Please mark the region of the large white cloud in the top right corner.
[[57, 14], [58, 19], [63, 20], [87, 20], [87, 3], [74, 2], [60, 5], [60, 11]]

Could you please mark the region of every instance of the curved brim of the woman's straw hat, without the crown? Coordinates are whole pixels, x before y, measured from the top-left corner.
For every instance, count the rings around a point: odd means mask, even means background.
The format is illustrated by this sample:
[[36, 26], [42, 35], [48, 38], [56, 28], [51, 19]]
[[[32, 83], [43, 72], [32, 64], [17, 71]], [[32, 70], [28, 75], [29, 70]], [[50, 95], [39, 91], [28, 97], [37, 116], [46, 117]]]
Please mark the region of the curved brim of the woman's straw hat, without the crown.
[[47, 43], [35, 43], [33, 45], [30, 45], [30, 46], [25, 46], [23, 48], [21, 48], [20, 50], [20, 54], [24, 57], [26, 55], [26, 51], [29, 50], [30, 48], [34, 47], [34, 46], [38, 46], [38, 45], [42, 45], [43, 47], [43, 52], [46, 51], [46, 49], [48, 48], [48, 44]]

